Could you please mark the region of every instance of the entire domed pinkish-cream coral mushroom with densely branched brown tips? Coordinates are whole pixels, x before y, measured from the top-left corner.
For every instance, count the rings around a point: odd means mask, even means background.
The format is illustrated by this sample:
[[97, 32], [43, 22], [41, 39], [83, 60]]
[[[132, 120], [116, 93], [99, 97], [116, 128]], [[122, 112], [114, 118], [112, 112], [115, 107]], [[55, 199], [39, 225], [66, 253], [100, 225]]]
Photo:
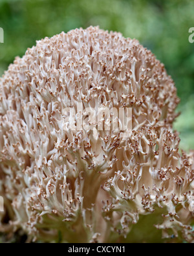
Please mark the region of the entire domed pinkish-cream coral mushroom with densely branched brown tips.
[[[193, 242], [194, 154], [178, 149], [178, 102], [137, 40], [89, 27], [37, 41], [0, 79], [0, 231]], [[127, 136], [121, 109], [132, 110]]]

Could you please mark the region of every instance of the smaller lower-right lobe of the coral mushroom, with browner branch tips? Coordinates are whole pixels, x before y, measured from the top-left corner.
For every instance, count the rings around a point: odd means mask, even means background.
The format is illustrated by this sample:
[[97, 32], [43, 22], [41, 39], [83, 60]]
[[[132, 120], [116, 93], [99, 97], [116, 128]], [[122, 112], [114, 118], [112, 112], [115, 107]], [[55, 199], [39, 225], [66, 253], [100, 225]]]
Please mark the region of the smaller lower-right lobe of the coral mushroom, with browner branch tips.
[[194, 158], [184, 152], [179, 156], [178, 141], [168, 130], [157, 135], [155, 130], [142, 129], [125, 141], [124, 150], [118, 151], [118, 172], [103, 186], [111, 194], [111, 200], [104, 203], [103, 215], [114, 231], [131, 242], [142, 237], [138, 222], [142, 216], [146, 222], [149, 215], [160, 216], [154, 226], [162, 230], [162, 238], [193, 241], [188, 224], [193, 222]]

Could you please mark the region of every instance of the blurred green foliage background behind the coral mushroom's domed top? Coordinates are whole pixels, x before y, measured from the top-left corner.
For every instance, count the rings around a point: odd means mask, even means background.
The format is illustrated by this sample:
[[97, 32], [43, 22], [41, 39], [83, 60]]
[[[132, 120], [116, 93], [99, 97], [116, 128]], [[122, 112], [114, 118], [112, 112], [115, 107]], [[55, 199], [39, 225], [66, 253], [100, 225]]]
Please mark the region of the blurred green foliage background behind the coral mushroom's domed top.
[[194, 148], [194, 27], [193, 0], [0, 0], [0, 75], [15, 56], [45, 36], [62, 30], [99, 25], [136, 38], [166, 66], [181, 99], [175, 122], [181, 146]]

